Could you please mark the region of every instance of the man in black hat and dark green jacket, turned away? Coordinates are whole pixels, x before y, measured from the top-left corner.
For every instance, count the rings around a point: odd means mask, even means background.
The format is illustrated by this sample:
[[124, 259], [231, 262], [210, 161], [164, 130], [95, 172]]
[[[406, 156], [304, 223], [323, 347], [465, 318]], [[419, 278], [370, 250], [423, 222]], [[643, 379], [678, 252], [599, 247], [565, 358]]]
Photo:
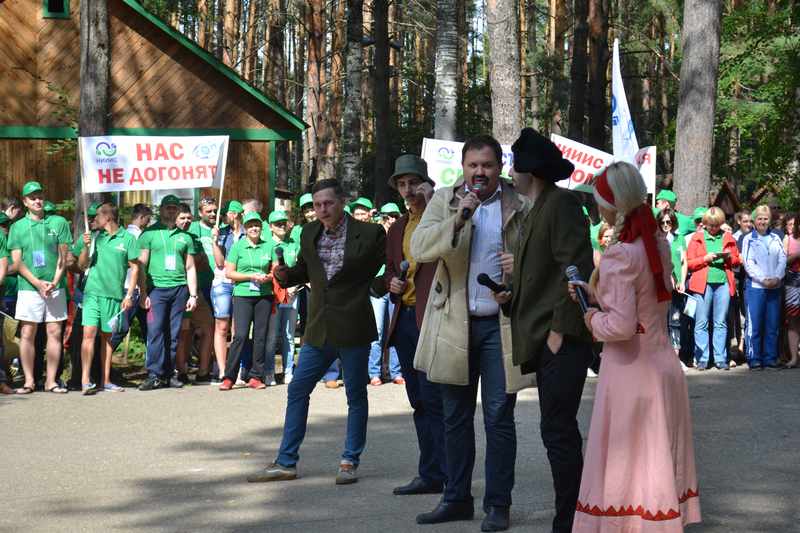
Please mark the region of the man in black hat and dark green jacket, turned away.
[[564, 271], [575, 265], [589, 279], [589, 226], [578, 197], [555, 184], [568, 178], [573, 166], [549, 139], [525, 128], [512, 151], [514, 181], [533, 201], [514, 261], [514, 364], [536, 372], [542, 440], [556, 492], [553, 531], [569, 532], [583, 469], [577, 414], [592, 338], [569, 298]]

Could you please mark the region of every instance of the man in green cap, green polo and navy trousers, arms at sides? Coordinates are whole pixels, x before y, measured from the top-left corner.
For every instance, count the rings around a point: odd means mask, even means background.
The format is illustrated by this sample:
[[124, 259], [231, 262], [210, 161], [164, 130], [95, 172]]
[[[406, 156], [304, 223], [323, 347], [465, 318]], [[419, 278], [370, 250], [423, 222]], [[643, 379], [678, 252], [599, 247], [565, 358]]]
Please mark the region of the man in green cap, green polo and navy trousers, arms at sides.
[[197, 251], [191, 235], [176, 226], [180, 203], [176, 196], [165, 196], [159, 221], [139, 237], [139, 290], [147, 295], [139, 305], [150, 311], [145, 359], [148, 377], [139, 385], [143, 391], [183, 386], [174, 375], [175, 356], [183, 313], [197, 307]]

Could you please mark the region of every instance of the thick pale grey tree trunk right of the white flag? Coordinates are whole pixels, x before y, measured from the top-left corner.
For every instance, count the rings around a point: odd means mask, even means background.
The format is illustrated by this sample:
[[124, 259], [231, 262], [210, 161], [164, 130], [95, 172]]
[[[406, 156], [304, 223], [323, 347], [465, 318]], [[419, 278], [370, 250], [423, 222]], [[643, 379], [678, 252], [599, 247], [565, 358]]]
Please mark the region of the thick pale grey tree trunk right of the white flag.
[[683, 13], [674, 190], [678, 208], [688, 213], [698, 205], [706, 205], [711, 187], [720, 2], [686, 0]]

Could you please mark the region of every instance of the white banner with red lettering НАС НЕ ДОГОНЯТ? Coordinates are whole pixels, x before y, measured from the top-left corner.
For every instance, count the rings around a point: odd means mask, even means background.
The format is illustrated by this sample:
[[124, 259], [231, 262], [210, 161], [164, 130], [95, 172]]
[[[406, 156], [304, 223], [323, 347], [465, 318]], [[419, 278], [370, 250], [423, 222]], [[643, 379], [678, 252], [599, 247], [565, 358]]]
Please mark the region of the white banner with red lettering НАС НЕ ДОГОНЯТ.
[[83, 192], [219, 188], [228, 136], [81, 137]]

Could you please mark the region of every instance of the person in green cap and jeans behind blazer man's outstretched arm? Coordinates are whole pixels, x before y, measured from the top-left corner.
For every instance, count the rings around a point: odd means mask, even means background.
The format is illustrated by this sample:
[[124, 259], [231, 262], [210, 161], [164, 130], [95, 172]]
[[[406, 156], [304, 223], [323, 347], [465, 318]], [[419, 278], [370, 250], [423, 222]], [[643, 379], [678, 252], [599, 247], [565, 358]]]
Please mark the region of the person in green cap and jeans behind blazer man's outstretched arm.
[[[282, 253], [283, 263], [291, 268], [297, 264], [300, 253], [300, 242], [292, 239], [287, 231], [289, 217], [286, 211], [273, 211], [269, 214], [270, 235], [267, 237], [273, 244], [272, 264], [281, 262], [279, 254]], [[281, 250], [279, 252], [278, 250]], [[278, 288], [275, 292], [275, 313], [269, 323], [269, 336], [267, 337], [267, 361], [274, 361], [278, 351], [283, 356], [283, 382], [287, 385], [292, 382], [294, 373], [294, 332], [297, 325], [297, 309], [295, 299], [297, 287], [287, 289]]]

